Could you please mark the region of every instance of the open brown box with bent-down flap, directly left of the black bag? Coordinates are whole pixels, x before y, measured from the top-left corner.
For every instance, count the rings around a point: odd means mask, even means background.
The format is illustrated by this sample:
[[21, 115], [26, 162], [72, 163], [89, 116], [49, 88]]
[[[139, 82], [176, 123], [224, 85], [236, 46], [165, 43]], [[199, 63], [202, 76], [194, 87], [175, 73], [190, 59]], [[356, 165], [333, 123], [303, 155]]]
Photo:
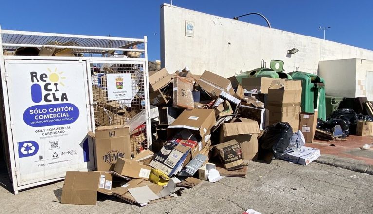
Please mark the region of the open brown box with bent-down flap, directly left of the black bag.
[[[237, 121], [237, 122], [236, 122]], [[220, 142], [236, 140], [241, 143], [243, 160], [258, 159], [258, 122], [246, 118], [238, 118], [233, 123], [224, 123], [220, 129]]]

